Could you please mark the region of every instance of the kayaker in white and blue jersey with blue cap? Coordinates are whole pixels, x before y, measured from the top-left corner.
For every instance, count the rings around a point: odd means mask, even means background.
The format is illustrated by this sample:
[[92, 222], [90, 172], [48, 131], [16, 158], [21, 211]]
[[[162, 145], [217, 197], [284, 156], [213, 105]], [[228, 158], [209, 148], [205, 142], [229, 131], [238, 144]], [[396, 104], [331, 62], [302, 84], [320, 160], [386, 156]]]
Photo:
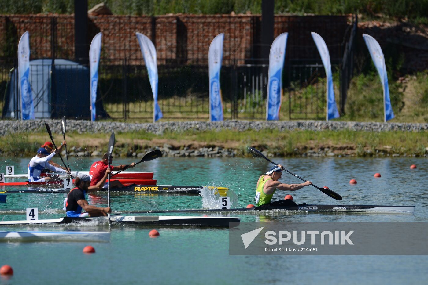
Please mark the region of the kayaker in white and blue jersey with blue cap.
[[49, 153], [45, 148], [41, 147], [37, 150], [37, 155], [30, 160], [28, 165], [28, 181], [29, 182], [47, 182], [51, 180], [57, 180], [57, 177], [40, 177], [42, 170], [47, 168], [53, 172], [69, 173], [70, 170], [61, 169], [49, 164], [49, 160], [58, 153], [55, 149], [52, 153]]

